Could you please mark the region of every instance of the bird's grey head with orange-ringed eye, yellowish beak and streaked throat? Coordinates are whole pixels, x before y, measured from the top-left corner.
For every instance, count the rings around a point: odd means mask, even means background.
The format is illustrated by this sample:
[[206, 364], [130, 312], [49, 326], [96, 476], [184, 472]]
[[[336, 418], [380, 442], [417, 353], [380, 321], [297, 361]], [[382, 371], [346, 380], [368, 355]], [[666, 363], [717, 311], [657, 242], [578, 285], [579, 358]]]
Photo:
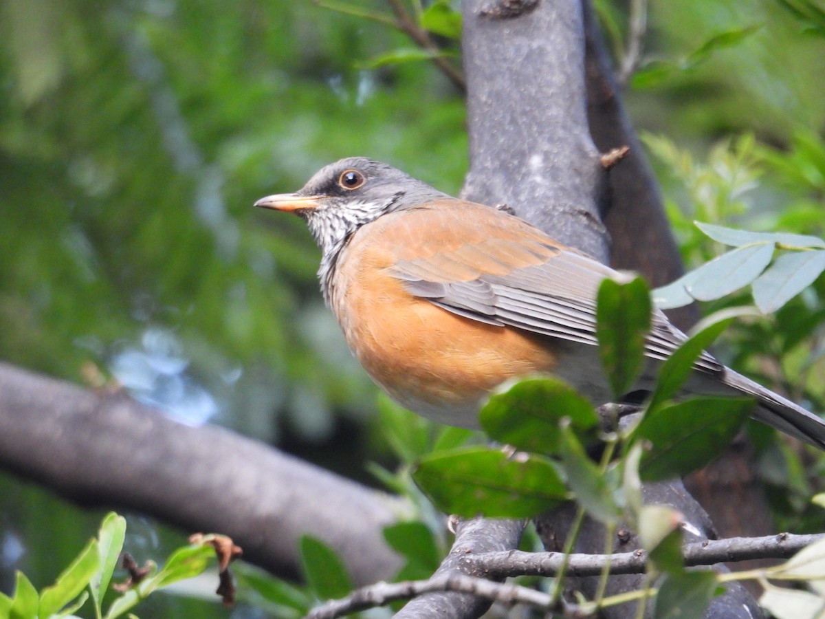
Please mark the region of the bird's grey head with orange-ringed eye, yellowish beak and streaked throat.
[[337, 255], [357, 229], [384, 213], [446, 197], [386, 163], [349, 157], [315, 172], [299, 191], [266, 196], [255, 206], [295, 213], [306, 220], [323, 253], [318, 276], [328, 300]]

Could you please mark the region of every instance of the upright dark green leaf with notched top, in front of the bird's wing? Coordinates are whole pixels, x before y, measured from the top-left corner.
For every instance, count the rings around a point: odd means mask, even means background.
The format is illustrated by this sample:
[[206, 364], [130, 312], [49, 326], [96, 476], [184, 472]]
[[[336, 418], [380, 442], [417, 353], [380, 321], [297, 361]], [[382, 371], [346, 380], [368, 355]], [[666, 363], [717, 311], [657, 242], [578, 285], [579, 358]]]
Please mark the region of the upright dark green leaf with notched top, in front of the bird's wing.
[[601, 282], [596, 300], [596, 335], [601, 365], [618, 402], [644, 367], [644, 342], [650, 330], [650, 291], [641, 277]]

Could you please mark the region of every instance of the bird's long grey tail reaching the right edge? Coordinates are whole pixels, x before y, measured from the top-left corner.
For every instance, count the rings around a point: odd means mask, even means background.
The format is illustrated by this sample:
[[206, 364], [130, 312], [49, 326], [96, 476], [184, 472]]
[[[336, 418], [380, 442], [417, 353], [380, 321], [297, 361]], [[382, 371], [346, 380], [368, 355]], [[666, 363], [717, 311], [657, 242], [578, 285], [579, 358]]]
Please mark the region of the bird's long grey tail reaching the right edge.
[[825, 420], [727, 367], [721, 378], [725, 385], [757, 399], [753, 418], [825, 450]]

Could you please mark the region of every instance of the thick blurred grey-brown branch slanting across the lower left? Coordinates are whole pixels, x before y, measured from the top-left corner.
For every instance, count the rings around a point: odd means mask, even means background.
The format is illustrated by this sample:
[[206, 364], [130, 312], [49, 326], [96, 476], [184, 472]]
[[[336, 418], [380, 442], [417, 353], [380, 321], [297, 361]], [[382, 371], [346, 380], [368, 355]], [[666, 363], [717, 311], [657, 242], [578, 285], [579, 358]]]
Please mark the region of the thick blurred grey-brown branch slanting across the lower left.
[[381, 536], [404, 504], [224, 428], [191, 428], [120, 394], [0, 363], [0, 466], [77, 503], [130, 508], [220, 532], [247, 560], [299, 573], [311, 533], [360, 584], [400, 560]]

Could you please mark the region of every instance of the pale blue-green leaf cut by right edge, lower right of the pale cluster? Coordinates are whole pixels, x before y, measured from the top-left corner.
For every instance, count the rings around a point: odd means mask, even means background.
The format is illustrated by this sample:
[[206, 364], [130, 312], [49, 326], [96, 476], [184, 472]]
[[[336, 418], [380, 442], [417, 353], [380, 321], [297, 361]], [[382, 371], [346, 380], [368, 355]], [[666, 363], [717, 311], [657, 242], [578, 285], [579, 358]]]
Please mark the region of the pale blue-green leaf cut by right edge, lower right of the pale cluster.
[[775, 312], [813, 284], [823, 270], [823, 250], [785, 253], [753, 282], [753, 300], [766, 314]]

